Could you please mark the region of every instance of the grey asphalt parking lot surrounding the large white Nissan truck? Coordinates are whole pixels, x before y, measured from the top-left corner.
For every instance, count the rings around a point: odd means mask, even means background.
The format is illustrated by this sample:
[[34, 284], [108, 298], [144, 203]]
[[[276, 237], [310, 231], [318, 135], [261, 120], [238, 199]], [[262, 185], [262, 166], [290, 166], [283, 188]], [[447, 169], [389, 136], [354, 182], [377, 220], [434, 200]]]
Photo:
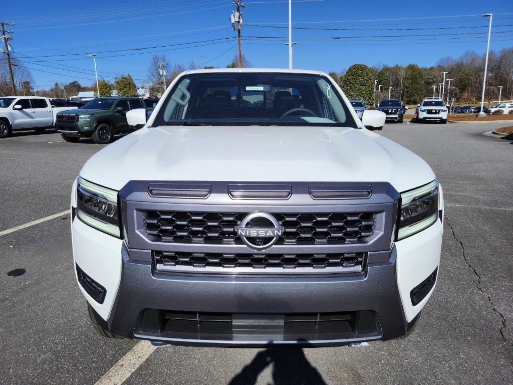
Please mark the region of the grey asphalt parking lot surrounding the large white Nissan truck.
[[154, 348], [96, 334], [69, 214], [5, 233], [66, 211], [72, 181], [103, 146], [51, 131], [0, 140], [0, 383], [513, 383], [513, 143], [483, 136], [504, 125], [385, 125], [444, 188], [437, 289], [406, 339], [303, 350]]

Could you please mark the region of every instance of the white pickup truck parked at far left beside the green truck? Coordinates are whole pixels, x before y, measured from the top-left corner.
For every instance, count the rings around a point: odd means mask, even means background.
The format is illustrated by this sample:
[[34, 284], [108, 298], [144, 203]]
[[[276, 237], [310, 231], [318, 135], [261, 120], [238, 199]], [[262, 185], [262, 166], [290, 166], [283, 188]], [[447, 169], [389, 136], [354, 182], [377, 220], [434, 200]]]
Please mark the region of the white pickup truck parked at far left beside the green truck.
[[76, 107], [54, 107], [48, 98], [0, 97], [0, 138], [14, 130], [42, 132], [55, 125], [57, 112]]

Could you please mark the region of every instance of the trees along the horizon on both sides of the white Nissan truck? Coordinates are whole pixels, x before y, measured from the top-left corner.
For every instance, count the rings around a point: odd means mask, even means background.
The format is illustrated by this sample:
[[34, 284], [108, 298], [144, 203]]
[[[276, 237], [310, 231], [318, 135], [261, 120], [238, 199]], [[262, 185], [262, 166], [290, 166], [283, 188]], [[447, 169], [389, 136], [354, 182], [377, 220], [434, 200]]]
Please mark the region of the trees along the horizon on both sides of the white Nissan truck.
[[[251, 67], [251, 63], [242, 58], [243, 67]], [[447, 78], [453, 79], [450, 89], [445, 86], [444, 99], [454, 98], [455, 102], [478, 103], [481, 100], [484, 54], [480, 55], [475, 51], [467, 51], [457, 59], [445, 56], [435, 66], [419, 67], [417, 64], [401, 66], [373, 66], [365, 64], [354, 64], [347, 70], [339, 72], [332, 71], [330, 76], [342, 87], [348, 98], [364, 99], [368, 104], [374, 100], [374, 81], [376, 83], [376, 102], [388, 98], [389, 87], [390, 97], [401, 99], [406, 104], [417, 104], [425, 97], [432, 97], [433, 86], [436, 86], [435, 95], [438, 97], [438, 84], [442, 83], [442, 72], [448, 72]], [[236, 67], [237, 57], [226, 66]], [[166, 74], [163, 76], [159, 63], [163, 63]], [[13, 58], [13, 72], [16, 90], [19, 95], [34, 94], [34, 81], [32, 74], [21, 61]], [[190, 63], [188, 69], [198, 67], [198, 63]], [[203, 68], [214, 68], [204, 66]], [[152, 96], [160, 97], [164, 91], [165, 84], [169, 85], [174, 78], [185, 70], [180, 63], [172, 64], [165, 55], [155, 54], [150, 60], [148, 67], [147, 81], [144, 88]], [[502, 88], [502, 100], [510, 99], [513, 95], [513, 48], [503, 49], [500, 52], [490, 51], [488, 60], [488, 75], [485, 89], [485, 100], [497, 100], [499, 86]], [[381, 85], [381, 92], [378, 89]], [[68, 84], [55, 83], [48, 89], [38, 89], [37, 94], [49, 98], [65, 98], [78, 94], [80, 91], [93, 91], [96, 96], [96, 83], [91, 86], [73, 81]], [[137, 87], [130, 74], [120, 75], [113, 81], [106, 79], [98, 80], [100, 96], [109, 96], [116, 90], [120, 96], [137, 96]], [[0, 96], [11, 94], [9, 72], [5, 60], [0, 60]]]

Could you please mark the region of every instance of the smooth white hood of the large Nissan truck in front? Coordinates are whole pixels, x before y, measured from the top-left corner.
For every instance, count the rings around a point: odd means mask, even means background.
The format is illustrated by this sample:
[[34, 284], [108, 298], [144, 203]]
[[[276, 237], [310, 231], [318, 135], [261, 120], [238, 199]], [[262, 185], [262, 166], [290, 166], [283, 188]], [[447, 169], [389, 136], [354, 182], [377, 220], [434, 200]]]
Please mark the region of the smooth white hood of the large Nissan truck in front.
[[167, 126], [142, 128], [93, 155], [80, 175], [120, 190], [130, 180], [389, 182], [435, 179], [424, 160], [367, 129]]

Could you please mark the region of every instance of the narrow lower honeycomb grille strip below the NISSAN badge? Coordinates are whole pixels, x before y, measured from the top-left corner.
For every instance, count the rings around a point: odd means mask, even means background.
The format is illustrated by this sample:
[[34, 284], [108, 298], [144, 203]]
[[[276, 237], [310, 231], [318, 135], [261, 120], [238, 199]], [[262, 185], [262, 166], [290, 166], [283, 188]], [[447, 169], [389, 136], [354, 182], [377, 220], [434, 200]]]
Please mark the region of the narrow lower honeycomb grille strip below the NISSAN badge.
[[221, 254], [153, 252], [157, 270], [176, 271], [176, 266], [253, 269], [342, 268], [343, 272], [361, 272], [365, 253], [333, 254]]

